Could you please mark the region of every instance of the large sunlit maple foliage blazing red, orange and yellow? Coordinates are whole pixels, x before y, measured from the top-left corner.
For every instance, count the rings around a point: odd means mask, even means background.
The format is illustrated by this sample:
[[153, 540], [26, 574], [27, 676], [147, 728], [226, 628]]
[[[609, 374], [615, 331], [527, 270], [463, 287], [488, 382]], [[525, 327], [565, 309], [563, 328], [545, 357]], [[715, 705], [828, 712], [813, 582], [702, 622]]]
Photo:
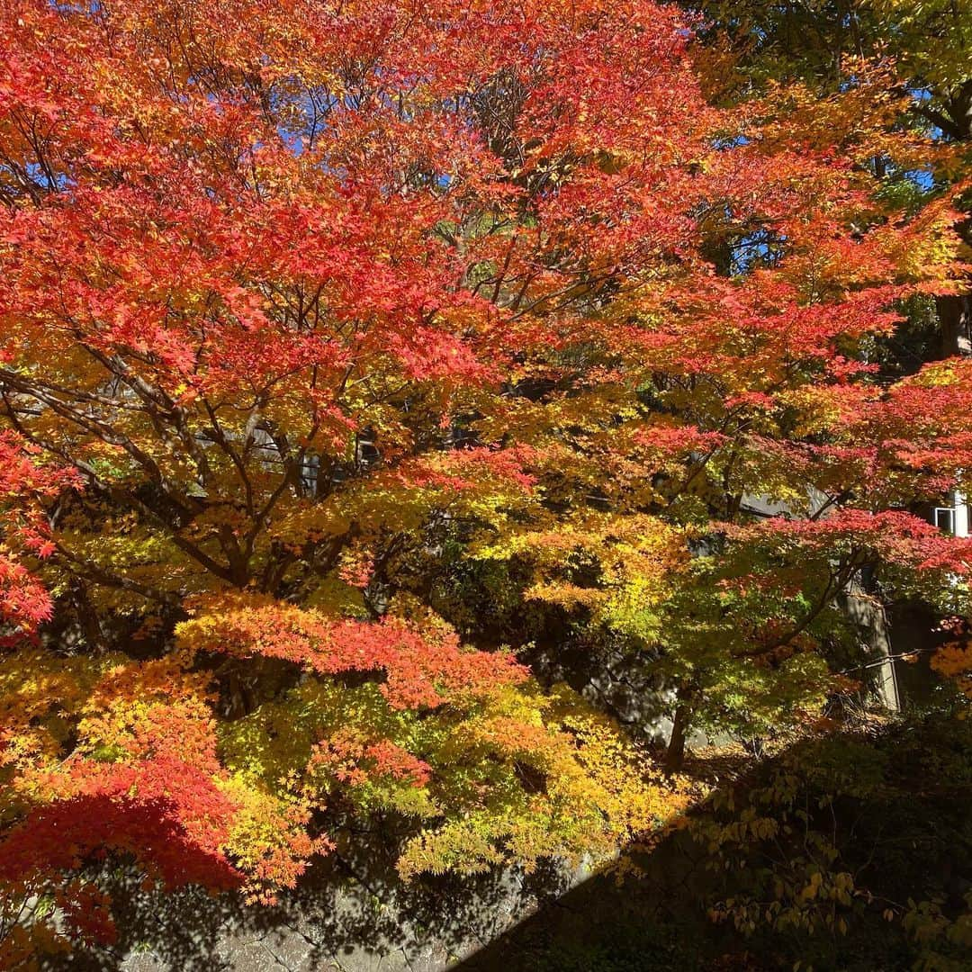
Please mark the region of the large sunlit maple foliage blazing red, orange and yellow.
[[867, 161], [955, 155], [872, 69], [717, 107], [647, 0], [15, 0], [0, 58], [12, 900], [110, 934], [106, 852], [266, 900], [378, 812], [405, 877], [609, 852], [688, 797], [554, 635], [671, 690], [676, 770], [846, 689], [862, 572], [958, 609], [906, 508], [969, 367], [873, 362], [955, 200]]

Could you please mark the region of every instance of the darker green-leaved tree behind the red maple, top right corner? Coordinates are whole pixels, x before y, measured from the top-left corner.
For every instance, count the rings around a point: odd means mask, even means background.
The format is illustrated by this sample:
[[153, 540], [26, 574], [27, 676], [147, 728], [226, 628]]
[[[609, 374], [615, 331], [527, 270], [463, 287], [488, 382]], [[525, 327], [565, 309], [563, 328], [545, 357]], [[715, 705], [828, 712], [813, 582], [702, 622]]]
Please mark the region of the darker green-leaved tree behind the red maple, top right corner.
[[[897, 102], [899, 128], [919, 130], [958, 149], [955, 161], [944, 167], [917, 157], [910, 168], [897, 154], [877, 152], [870, 165], [884, 183], [882, 191], [919, 207], [943, 187], [964, 184], [972, 144], [972, 17], [966, 4], [685, 0], [683, 6], [704, 23], [709, 83], [720, 101], [733, 103], [753, 90], [794, 80], [822, 94], [861, 89], [862, 64], [881, 63], [883, 70], [862, 93], [869, 88], [872, 99]], [[967, 192], [961, 209], [969, 211]], [[966, 245], [969, 227], [967, 218], [958, 227]], [[885, 341], [885, 365], [910, 371], [922, 361], [953, 354], [957, 339], [968, 338], [970, 320], [967, 294], [913, 302]]]

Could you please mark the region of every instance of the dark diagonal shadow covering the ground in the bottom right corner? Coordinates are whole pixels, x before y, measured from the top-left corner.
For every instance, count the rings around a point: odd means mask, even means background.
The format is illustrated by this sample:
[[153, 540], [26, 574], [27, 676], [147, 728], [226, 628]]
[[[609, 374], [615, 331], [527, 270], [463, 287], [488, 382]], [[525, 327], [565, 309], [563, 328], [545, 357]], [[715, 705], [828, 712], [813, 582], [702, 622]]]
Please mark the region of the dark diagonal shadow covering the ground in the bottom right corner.
[[[797, 744], [716, 789], [705, 823], [733, 831], [718, 851], [712, 829], [679, 829], [631, 853], [637, 876], [592, 877], [455, 972], [972, 969], [972, 726], [955, 714]], [[842, 874], [846, 901], [830, 893]], [[709, 919], [733, 903], [748, 934]], [[771, 918], [787, 913], [816, 927]]]

